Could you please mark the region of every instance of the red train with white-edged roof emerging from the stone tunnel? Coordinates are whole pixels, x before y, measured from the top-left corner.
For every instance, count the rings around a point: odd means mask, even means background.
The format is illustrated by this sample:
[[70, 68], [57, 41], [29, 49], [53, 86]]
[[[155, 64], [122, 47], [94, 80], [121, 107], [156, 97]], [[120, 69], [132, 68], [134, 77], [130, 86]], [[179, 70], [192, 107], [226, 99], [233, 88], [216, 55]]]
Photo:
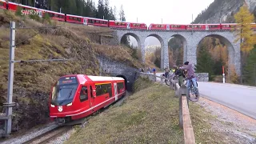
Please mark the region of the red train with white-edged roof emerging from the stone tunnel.
[[66, 75], [50, 94], [50, 119], [58, 123], [85, 118], [126, 95], [124, 78]]

